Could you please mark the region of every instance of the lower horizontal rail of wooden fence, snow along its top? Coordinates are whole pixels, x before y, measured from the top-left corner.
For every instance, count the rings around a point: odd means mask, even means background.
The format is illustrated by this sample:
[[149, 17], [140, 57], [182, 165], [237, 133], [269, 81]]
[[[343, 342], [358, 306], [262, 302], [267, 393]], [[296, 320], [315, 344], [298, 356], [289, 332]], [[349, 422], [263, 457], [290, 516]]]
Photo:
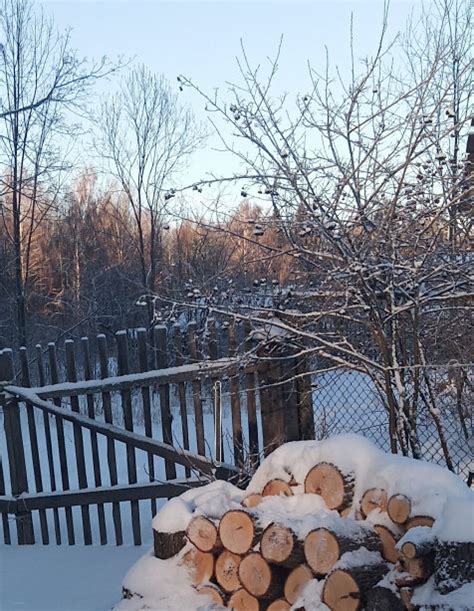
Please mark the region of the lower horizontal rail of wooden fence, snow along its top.
[[67, 492], [43, 492], [28, 494], [20, 500], [14, 497], [0, 496], [0, 511], [13, 513], [23, 503], [32, 511], [59, 507], [77, 507], [99, 503], [121, 503], [140, 501], [149, 498], [171, 498], [205, 484], [207, 480], [182, 479], [169, 482], [150, 482], [125, 484], [121, 486], [89, 488], [88, 490], [68, 490]]

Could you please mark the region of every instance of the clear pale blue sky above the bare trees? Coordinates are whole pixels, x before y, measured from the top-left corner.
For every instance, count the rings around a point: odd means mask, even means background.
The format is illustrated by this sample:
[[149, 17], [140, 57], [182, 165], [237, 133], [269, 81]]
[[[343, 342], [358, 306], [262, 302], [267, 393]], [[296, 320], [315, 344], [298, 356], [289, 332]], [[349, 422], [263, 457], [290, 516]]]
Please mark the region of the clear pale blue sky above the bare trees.
[[[283, 34], [277, 87], [293, 96], [307, 88], [308, 60], [316, 68], [324, 66], [325, 45], [331, 62], [347, 68], [351, 13], [357, 55], [373, 53], [383, 12], [382, 0], [40, 2], [59, 28], [72, 27], [72, 42], [81, 55], [133, 57], [163, 73], [174, 86], [181, 73], [207, 92], [222, 90], [226, 81], [238, 78], [235, 58], [241, 39], [250, 59], [263, 63], [275, 53]], [[403, 30], [413, 7], [420, 6], [420, 0], [392, 0], [390, 34]], [[101, 85], [106, 92], [113, 87], [113, 83]], [[182, 99], [198, 118], [206, 119], [202, 100], [188, 91]], [[206, 166], [225, 171], [228, 162], [209, 149], [193, 162], [193, 180]]]

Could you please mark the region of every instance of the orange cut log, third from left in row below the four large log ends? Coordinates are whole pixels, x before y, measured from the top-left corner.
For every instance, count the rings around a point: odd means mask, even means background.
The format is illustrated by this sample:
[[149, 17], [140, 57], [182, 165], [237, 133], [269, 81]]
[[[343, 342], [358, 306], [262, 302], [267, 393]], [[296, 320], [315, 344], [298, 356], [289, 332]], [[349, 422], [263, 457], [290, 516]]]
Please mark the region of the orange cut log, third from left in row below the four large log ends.
[[283, 591], [283, 570], [272, 567], [258, 552], [243, 558], [239, 579], [249, 594], [256, 598], [278, 598]]

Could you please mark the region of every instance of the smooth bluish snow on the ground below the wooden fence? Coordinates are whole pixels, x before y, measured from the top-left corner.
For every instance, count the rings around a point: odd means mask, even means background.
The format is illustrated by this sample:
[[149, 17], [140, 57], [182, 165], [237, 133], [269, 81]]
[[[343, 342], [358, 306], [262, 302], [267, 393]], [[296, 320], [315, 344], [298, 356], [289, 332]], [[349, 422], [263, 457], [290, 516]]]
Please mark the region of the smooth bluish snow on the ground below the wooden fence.
[[4, 611], [106, 611], [121, 597], [133, 546], [4, 545], [0, 608]]

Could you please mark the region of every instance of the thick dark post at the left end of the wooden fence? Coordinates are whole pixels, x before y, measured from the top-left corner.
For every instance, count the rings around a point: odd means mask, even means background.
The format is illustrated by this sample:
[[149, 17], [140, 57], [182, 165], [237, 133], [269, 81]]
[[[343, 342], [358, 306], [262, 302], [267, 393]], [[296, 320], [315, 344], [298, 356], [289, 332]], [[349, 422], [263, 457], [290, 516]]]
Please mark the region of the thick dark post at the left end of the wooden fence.
[[[13, 353], [9, 349], [1, 350], [0, 380], [9, 382], [12, 381], [14, 377]], [[19, 496], [24, 492], [28, 492], [28, 476], [26, 472], [23, 435], [21, 432], [19, 402], [15, 399], [9, 399], [7, 401], [4, 395], [0, 402], [3, 403], [11, 493], [12, 496]], [[31, 511], [27, 511], [25, 507], [23, 510], [15, 512], [15, 520], [18, 543], [20, 545], [33, 544], [35, 542], [35, 535]]]

